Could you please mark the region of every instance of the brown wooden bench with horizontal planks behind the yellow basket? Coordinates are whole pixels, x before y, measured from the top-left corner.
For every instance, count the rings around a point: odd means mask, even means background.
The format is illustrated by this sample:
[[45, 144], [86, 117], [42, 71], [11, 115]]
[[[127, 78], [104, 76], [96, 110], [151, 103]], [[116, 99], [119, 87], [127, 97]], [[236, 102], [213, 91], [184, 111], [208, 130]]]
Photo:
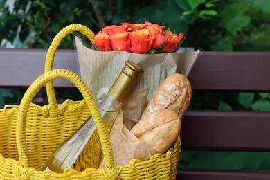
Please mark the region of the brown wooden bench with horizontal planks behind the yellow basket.
[[[44, 72], [46, 50], [0, 49], [0, 87], [28, 87]], [[79, 73], [76, 52], [58, 50], [53, 68]], [[270, 91], [270, 53], [202, 52], [189, 80], [194, 91]], [[73, 87], [56, 80], [55, 87]], [[182, 150], [270, 152], [270, 111], [188, 111]], [[178, 170], [180, 180], [264, 180], [269, 172]]]

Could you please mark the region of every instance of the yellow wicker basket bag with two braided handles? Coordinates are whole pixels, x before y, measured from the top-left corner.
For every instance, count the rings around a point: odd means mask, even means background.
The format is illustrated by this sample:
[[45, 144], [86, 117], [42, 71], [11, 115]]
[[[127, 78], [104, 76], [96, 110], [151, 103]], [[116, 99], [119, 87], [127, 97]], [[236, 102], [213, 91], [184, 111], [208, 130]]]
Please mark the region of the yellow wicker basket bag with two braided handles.
[[[69, 70], [55, 69], [53, 58], [61, 39], [80, 31], [89, 39], [93, 33], [87, 27], [73, 24], [62, 29], [48, 49], [45, 73], [28, 88], [21, 104], [0, 109], [0, 179], [175, 179], [181, 151], [180, 136], [165, 154], [154, 154], [147, 161], [132, 159], [129, 164], [114, 165], [114, 157], [105, 124], [96, 102], [84, 82]], [[57, 104], [53, 89], [55, 78], [66, 78], [80, 90], [81, 101], [66, 100]], [[48, 105], [31, 101], [46, 85]], [[62, 174], [40, 169], [53, 150], [84, 120], [93, 116], [105, 156], [105, 168], [87, 168], [78, 172], [66, 168]]]

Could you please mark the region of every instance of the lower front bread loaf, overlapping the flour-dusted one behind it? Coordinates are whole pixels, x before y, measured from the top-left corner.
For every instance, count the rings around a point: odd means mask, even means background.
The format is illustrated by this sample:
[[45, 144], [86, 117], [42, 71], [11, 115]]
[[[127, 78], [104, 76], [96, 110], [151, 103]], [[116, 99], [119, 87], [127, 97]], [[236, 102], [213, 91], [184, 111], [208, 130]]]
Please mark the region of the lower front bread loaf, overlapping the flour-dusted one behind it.
[[172, 109], [162, 109], [154, 114], [145, 117], [139, 128], [134, 132], [135, 136], [144, 143], [164, 153], [177, 139], [181, 121], [178, 114]]

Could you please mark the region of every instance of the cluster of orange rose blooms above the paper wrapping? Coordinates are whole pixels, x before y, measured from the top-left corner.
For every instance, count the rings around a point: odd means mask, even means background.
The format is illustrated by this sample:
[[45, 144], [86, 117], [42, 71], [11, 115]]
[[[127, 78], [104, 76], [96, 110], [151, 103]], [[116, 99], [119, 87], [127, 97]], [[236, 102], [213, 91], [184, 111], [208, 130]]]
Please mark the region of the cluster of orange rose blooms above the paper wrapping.
[[102, 28], [94, 37], [93, 48], [98, 51], [126, 51], [130, 53], [172, 53], [183, 43], [179, 35], [165, 26], [145, 22], [144, 24], [123, 23]]

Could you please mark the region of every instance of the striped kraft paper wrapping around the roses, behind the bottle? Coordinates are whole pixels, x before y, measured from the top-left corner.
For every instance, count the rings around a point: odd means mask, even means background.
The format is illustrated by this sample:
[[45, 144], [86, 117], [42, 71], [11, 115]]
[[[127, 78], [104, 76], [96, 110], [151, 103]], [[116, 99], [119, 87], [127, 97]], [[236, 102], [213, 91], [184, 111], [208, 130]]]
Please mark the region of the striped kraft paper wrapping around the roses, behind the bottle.
[[148, 87], [150, 100], [154, 91], [166, 77], [173, 73], [188, 76], [200, 51], [189, 51], [188, 48], [179, 48], [176, 53], [136, 54], [125, 51], [95, 51], [84, 46], [78, 36], [75, 37], [75, 46], [78, 52], [80, 75], [87, 84], [98, 104], [109, 91], [125, 61], [132, 61], [143, 68], [136, 88]]

